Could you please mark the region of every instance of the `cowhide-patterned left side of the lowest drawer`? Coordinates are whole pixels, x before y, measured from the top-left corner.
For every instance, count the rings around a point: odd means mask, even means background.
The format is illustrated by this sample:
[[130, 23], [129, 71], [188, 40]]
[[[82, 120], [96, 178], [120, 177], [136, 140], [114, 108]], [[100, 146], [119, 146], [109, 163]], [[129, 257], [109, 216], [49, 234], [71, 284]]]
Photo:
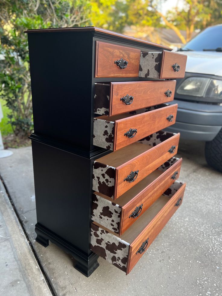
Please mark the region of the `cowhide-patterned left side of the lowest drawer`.
[[91, 250], [126, 272], [129, 243], [92, 223]]

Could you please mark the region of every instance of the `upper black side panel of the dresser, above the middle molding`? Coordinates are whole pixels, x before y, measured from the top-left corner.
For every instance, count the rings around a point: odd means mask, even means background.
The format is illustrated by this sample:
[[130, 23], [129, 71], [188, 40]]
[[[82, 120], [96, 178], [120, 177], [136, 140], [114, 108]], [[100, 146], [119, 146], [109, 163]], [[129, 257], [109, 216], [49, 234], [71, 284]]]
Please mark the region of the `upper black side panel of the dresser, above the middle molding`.
[[28, 34], [28, 42], [35, 133], [90, 150], [92, 32]]

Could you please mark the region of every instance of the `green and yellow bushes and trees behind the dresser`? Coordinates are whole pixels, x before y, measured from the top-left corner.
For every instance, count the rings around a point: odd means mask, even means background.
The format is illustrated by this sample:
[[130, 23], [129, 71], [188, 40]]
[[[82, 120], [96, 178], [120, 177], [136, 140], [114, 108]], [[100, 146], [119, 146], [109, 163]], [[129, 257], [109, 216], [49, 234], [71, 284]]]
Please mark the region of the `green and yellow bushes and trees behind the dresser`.
[[[186, 43], [196, 29], [221, 22], [220, 0], [181, 0], [182, 9], [175, 7], [163, 14], [160, 8], [164, 1], [2, 0], [0, 102], [5, 117], [0, 129], [3, 135], [13, 133], [18, 138], [27, 138], [33, 129], [29, 55], [24, 30], [98, 26], [122, 33], [127, 25], [152, 36], [154, 28], [168, 27], [181, 43]], [[186, 37], [180, 30], [186, 31]]]

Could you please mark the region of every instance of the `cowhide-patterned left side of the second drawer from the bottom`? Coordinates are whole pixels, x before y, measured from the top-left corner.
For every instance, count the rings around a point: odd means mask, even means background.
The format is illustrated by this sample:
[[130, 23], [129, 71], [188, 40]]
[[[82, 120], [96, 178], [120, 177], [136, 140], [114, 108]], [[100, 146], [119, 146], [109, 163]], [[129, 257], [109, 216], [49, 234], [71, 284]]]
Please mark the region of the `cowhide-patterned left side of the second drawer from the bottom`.
[[92, 220], [119, 233], [121, 206], [93, 193]]

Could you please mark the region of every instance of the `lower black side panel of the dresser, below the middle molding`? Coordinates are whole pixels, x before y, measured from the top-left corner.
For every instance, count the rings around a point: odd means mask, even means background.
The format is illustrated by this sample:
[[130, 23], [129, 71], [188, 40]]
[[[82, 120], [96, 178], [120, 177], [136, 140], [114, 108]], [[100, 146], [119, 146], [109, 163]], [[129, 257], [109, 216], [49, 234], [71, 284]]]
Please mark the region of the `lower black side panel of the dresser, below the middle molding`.
[[90, 254], [93, 158], [33, 140], [32, 151], [38, 223]]

